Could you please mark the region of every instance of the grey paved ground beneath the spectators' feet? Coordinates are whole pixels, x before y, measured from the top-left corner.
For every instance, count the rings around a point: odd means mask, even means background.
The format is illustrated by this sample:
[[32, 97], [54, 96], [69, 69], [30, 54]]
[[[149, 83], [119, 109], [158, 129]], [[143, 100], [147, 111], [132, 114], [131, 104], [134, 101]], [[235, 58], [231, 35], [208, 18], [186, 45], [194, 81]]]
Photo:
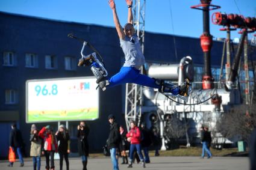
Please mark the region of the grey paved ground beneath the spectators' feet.
[[[119, 159], [120, 161], [120, 159]], [[13, 168], [7, 167], [7, 162], [0, 162], [1, 170], [22, 170], [33, 169], [33, 165], [30, 159], [25, 160], [25, 166], [19, 167], [19, 162], [14, 163]], [[58, 160], [55, 160], [55, 169], [59, 169]], [[42, 160], [41, 169], [45, 167], [45, 159]], [[64, 163], [63, 169], [66, 169]], [[79, 158], [70, 158], [70, 170], [82, 169], [81, 160]], [[89, 159], [87, 166], [89, 170], [111, 170], [110, 157], [106, 158], [93, 158]], [[119, 169], [127, 169], [126, 165], [119, 165]], [[130, 169], [144, 169], [140, 164], [134, 164]], [[199, 157], [151, 157], [151, 163], [146, 164], [146, 169], [150, 170], [224, 170], [224, 169], [237, 169], [237, 170], [249, 170], [248, 157], [213, 157], [213, 159], [200, 159]]]

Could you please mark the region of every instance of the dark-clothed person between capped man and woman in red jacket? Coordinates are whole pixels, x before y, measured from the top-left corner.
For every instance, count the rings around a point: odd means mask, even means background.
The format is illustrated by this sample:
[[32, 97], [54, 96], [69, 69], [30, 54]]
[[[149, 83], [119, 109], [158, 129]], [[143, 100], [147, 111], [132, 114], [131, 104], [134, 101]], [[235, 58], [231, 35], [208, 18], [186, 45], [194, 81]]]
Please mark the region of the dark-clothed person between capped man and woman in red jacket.
[[127, 154], [125, 152], [128, 148], [128, 142], [127, 142], [127, 138], [126, 138], [127, 132], [126, 132], [126, 130], [123, 126], [120, 126], [119, 131], [120, 131], [120, 135], [121, 135], [121, 142], [119, 144], [119, 151], [121, 153], [122, 160], [123, 160], [123, 162], [121, 164], [128, 164], [128, 157], [127, 157]]

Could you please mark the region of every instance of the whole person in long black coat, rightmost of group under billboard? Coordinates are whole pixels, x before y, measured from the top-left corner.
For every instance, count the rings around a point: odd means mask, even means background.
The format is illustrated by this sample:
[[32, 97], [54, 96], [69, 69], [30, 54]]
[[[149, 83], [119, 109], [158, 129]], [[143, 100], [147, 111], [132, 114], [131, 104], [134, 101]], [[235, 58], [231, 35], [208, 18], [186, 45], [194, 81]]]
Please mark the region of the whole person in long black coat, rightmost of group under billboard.
[[82, 159], [83, 170], [87, 170], [87, 161], [89, 156], [88, 135], [90, 129], [85, 121], [81, 121], [77, 126], [78, 151]]

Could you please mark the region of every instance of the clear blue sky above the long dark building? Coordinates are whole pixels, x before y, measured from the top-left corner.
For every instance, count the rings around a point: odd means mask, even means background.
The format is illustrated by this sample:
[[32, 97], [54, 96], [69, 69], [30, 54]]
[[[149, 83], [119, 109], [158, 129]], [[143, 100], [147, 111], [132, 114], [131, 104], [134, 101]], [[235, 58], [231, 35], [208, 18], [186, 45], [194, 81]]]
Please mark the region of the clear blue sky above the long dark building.
[[[200, 37], [202, 11], [190, 8], [197, 4], [200, 4], [199, 0], [146, 0], [145, 30]], [[213, 0], [211, 4], [219, 5], [221, 8], [210, 11], [210, 16], [213, 12], [220, 11], [256, 17], [256, 0]], [[119, 20], [124, 25], [127, 20], [125, 0], [116, 0], [116, 8]], [[114, 26], [107, 0], [0, 0], [0, 11], [46, 19]], [[210, 23], [211, 35], [226, 37], [224, 31], [219, 31], [220, 28], [222, 26]], [[240, 37], [237, 32], [231, 32], [231, 38]], [[253, 34], [249, 34], [249, 38], [252, 37]]]

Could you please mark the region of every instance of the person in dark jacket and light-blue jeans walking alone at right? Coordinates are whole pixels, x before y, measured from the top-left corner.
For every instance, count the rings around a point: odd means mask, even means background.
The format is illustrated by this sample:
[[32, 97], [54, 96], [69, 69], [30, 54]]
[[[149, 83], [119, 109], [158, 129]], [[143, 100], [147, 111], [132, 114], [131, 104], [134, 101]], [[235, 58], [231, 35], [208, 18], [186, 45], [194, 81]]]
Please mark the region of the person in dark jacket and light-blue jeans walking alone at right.
[[[210, 136], [209, 136], [210, 135]], [[208, 127], [201, 127], [201, 140], [202, 140], [202, 158], [204, 158], [205, 151], [207, 153], [207, 158], [211, 158], [212, 154], [209, 150], [209, 141], [211, 141], [211, 134], [208, 132]]]

